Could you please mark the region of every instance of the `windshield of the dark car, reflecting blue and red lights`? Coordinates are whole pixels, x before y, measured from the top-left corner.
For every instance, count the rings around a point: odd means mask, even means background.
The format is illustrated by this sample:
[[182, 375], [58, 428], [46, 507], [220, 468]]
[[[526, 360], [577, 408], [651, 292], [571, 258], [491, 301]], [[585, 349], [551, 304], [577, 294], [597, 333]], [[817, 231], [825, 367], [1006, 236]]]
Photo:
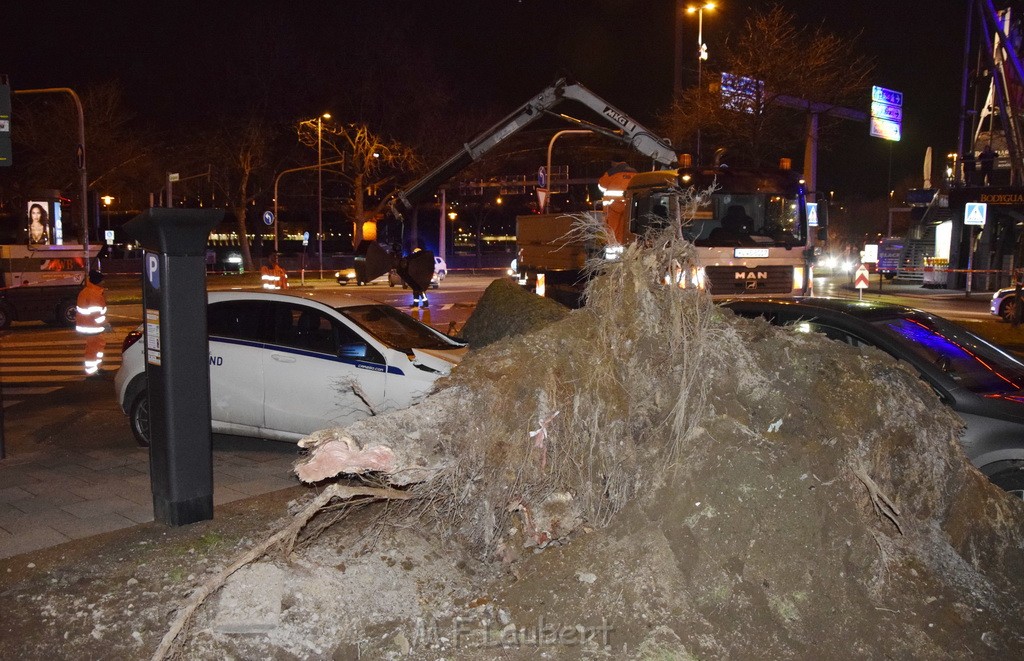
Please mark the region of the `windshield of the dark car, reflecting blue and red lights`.
[[1001, 396], [1024, 389], [1024, 363], [953, 323], [930, 315], [873, 323], [971, 392]]

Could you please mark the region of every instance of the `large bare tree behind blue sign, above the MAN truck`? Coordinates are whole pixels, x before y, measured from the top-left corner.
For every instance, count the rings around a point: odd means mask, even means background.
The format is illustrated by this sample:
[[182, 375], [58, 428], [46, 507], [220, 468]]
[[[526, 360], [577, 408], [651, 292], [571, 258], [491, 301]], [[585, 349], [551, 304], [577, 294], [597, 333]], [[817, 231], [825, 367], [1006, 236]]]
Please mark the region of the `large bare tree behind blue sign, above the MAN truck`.
[[[805, 132], [800, 112], [780, 97], [835, 106], [866, 98], [872, 64], [856, 39], [801, 27], [778, 5], [748, 18], [722, 52], [721, 69], [706, 70], [702, 88], [684, 91], [662, 118], [676, 144], [690, 143], [699, 128], [703, 143], [728, 149], [730, 162], [771, 163], [792, 155]], [[822, 123], [822, 136], [829, 126]]]

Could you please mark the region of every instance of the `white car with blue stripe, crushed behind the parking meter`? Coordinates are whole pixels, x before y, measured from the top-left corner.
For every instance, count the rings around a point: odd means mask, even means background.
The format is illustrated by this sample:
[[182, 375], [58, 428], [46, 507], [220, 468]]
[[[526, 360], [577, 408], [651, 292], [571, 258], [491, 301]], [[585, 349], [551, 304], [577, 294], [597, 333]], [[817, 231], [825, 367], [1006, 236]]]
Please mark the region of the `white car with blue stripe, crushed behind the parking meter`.
[[[287, 441], [410, 406], [466, 352], [391, 306], [323, 291], [211, 292], [207, 326], [213, 431]], [[125, 340], [115, 389], [147, 445], [140, 337]]]

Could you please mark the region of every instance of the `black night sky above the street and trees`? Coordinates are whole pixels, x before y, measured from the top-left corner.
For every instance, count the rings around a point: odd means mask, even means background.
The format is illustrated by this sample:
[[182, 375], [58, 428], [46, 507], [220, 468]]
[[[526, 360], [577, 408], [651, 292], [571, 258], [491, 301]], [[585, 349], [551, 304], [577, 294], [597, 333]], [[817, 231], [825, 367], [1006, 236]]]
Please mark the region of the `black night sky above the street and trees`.
[[[740, 0], [720, 4], [705, 14], [712, 64], [750, 8], [767, 6]], [[857, 37], [861, 50], [874, 59], [873, 83], [904, 93], [902, 141], [868, 137], [866, 125], [844, 129], [836, 148], [820, 157], [819, 189], [884, 195], [911, 176], [921, 185], [926, 147], [934, 148], [937, 162], [954, 149], [968, 1], [779, 4], [800, 21]], [[250, 102], [238, 90], [247, 80], [259, 80], [267, 62], [315, 61], [333, 71], [346, 60], [373, 62], [401, 52], [429, 60], [467, 109], [511, 112], [560, 74], [569, 74], [650, 122], [672, 92], [674, 6], [674, 0], [17, 0], [2, 12], [0, 73], [10, 77], [15, 90], [79, 89], [119, 80], [139, 117], [189, 122]], [[690, 53], [696, 20], [686, 28], [684, 52]], [[687, 76], [695, 78], [694, 65], [685, 63]], [[294, 87], [269, 102], [297, 116], [318, 114], [313, 104], [340, 93], [345, 81], [316, 78], [290, 81]], [[867, 95], [865, 90], [859, 109], [866, 111]], [[800, 163], [802, 156], [794, 155], [794, 161]]]

